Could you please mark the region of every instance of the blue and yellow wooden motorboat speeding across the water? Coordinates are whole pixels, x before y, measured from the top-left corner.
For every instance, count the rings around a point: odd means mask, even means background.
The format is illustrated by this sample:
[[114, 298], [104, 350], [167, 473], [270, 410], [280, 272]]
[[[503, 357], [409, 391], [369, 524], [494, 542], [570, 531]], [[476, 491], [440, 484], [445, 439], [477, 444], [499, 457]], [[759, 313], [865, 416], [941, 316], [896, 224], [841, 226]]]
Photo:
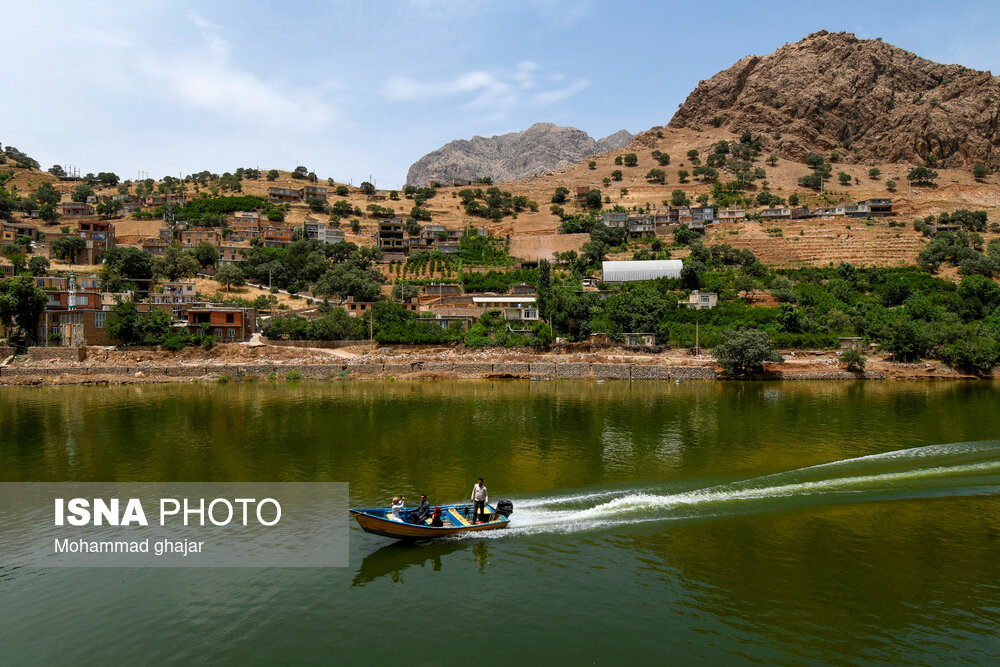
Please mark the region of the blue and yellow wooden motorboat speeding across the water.
[[[489, 520], [486, 523], [473, 524], [472, 505], [440, 505], [442, 526], [430, 525], [431, 520], [411, 523], [410, 513], [412, 510], [406, 509], [402, 512], [402, 519], [392, 516], [392, 510], [387, 507], [373, 509], [352, 509], [351, 514], [357, 520], [358, 525], [366, 533], [392, 537], [400, 540], [428, 540], [436, 537], [446, 537], [480, 530], [496, 530], [506, 528], [510, 523], [510, 514], [513, 512], [513, 504], [510, 501], [501, 500], [496, 506], [487, 505], [486, 514]], [[499, 509], [498, 509], [499, 508]]]

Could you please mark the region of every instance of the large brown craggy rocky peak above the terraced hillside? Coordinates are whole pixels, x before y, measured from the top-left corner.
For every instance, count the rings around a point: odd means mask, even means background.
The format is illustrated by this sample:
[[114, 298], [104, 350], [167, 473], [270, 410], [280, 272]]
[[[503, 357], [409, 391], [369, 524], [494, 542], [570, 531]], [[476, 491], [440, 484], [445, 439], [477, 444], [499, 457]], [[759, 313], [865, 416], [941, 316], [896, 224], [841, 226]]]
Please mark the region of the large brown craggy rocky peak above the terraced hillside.
[[798, 159], [995, 167], [998, 119], [1000, 77], [824, 30], [702, 81], [669, 127], [766, 133], [769, 150]]

